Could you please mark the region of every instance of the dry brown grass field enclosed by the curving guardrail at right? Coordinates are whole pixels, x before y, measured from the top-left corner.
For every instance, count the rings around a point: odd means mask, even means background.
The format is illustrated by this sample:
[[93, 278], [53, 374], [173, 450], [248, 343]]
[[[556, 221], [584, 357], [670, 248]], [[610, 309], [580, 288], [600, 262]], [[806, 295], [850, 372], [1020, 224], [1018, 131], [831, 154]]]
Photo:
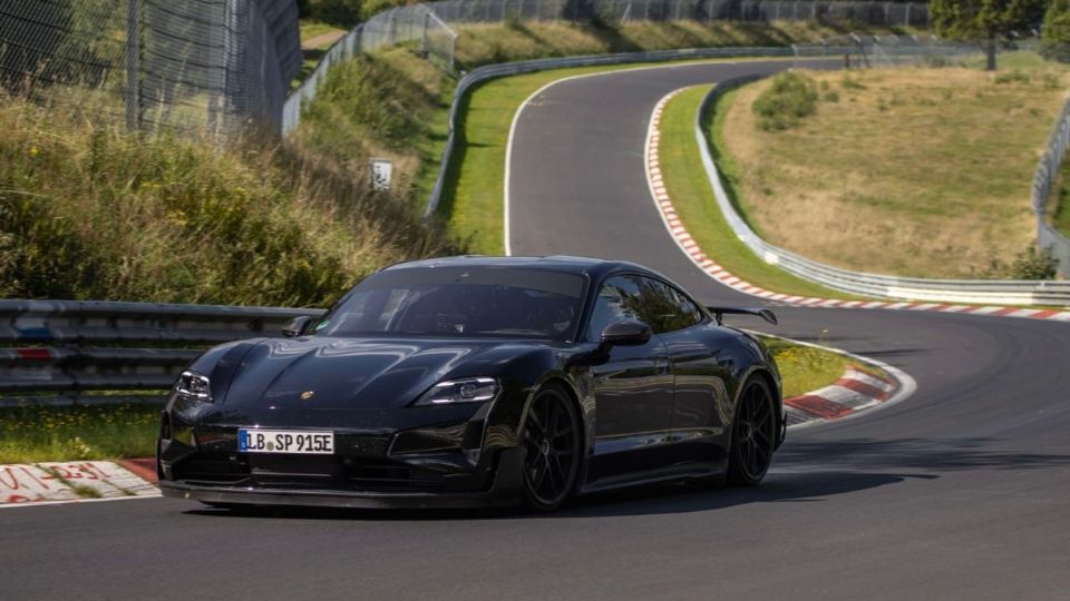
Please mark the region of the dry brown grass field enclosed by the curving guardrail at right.
[[[810, 72], [839, 95], [800, 127], [755, 127], [740, 90], [720, 132], [742, 208], [772, 244], [845, 268], [983, 276], [1033, 239], [1029, 186], [1066, 71], [959, 68]], [[1005, 76], [1004, 76], [1005, 79]]]

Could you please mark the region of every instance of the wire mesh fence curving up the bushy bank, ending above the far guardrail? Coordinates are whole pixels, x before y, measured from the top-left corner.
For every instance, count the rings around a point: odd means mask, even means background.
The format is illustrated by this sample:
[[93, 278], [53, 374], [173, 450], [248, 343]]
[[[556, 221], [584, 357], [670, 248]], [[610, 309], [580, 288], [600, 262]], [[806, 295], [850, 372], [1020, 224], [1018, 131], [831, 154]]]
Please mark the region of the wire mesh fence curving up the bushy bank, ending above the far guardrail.
[[380, 12], [334, 42], [312, 73], [290, 95], [282, 111], [282, 134], [298, 126], [301, 107], [315, 99], [320, 85], [335, 65], [354, 55], [399, 43], [414, 45], [431, 62], [454, 70], [457, 33], [429, 6], [411, 4]]

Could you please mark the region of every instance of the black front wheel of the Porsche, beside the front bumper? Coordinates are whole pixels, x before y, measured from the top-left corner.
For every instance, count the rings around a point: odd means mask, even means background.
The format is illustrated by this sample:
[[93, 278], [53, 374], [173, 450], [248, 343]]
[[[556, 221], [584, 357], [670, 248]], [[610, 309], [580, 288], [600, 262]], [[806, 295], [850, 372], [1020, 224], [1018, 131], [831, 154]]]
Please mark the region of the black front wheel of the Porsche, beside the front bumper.
[[524, 503], [552, 511], [572, 494], [580, 472], [580, 415], [568, 395], [546, 386], [532, 401], [524, 422]]

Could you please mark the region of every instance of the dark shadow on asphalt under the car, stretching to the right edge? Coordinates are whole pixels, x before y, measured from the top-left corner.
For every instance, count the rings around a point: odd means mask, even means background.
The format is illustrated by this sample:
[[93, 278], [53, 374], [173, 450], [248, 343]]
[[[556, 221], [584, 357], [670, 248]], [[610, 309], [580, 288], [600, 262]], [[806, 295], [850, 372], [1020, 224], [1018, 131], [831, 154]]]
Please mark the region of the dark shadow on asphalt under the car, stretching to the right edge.
[[1014, 452], [989, 439], [926, 441], [800, 441], [777, 455], [760, 486], [698, 486], [688, 483], [638, 486], [593, 493], [560, 511], [533, 514], [519, 509], [346, 510], [325, 508], [198, 509], [188, 515], [215, 518], [453, 521], [555, 520], [718, 511], [755, 503], [820, 503], [829, 497], [891, 486], [907, 480], [932, 481], [969, 470], [1028, 470], [1070, 465], [1070, 455]]

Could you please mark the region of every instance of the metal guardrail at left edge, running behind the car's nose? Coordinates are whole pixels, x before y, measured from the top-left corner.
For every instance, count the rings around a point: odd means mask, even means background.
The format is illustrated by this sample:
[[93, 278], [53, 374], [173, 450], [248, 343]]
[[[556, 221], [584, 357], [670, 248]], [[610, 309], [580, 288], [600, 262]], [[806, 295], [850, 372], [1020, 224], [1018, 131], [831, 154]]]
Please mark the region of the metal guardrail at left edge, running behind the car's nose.
[[[0, 300], [0, 393], [163, 390], [205, 346], [275, 337], [318, 309]], [[105, 401], [107, 398], [104, 398]], [[18, 403], [0, 397], [0, 405]], [[54, 403], [55, 404], [55, 403]]]

